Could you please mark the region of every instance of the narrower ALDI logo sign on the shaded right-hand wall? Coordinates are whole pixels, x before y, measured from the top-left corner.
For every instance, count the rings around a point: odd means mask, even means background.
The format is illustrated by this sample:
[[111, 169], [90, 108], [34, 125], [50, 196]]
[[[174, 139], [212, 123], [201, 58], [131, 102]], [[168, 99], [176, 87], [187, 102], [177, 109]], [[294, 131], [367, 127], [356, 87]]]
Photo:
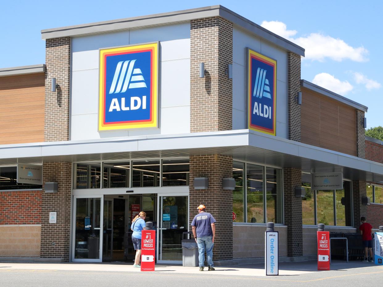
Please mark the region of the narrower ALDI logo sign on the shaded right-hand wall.
[[249, 129], [275, 135], [277, 61], [247, 48]]

